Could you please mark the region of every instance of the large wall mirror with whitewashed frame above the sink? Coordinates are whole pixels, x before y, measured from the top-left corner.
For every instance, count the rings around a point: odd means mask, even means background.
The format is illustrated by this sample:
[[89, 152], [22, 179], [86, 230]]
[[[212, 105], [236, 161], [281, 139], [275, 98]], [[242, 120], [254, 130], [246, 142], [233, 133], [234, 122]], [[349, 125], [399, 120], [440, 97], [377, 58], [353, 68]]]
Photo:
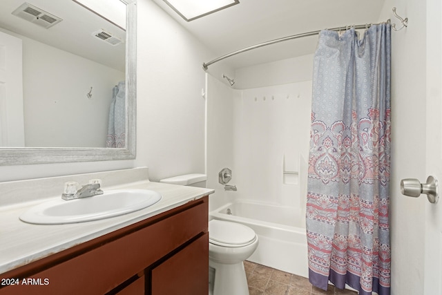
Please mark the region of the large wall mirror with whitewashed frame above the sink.
[[[23, 58], [8, 66], [0, 44], [0, 165], [135, 158], [136, 3], [121, 1], [126, 28], [77, 0], [2, 1], [0, 35], [21, 39]], [[22, 81], [4, 68], [23, 68]]]

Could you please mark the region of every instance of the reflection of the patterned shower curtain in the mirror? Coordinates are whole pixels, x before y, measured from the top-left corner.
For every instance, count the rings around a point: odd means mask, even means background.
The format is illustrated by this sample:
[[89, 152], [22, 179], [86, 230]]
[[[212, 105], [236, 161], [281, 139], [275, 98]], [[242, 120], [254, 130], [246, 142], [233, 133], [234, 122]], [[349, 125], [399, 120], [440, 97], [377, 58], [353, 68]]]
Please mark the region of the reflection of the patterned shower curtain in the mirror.
[[106, 147], [124, 148], [126, 146], [126, 82], [119, 82], [112, 92]]

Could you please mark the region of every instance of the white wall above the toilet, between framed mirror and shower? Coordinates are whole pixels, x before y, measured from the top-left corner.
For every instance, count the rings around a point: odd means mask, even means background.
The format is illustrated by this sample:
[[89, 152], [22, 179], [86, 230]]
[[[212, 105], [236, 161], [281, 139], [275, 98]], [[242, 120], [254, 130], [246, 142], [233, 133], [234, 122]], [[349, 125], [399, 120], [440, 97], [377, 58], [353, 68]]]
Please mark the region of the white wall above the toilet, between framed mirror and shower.
[[152, 180], [204, 173], [202, 62], [213, 55], [152, 1], [137, 8], [136, 164]]

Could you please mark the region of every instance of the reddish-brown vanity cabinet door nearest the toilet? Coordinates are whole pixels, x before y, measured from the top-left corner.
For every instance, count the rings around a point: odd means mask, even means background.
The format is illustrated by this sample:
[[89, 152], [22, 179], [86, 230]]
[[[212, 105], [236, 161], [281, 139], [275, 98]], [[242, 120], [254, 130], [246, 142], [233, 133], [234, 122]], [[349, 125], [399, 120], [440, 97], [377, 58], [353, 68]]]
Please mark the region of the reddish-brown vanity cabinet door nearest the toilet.
[[152, 295], [209, 294], [209, 233], [152, 270]]

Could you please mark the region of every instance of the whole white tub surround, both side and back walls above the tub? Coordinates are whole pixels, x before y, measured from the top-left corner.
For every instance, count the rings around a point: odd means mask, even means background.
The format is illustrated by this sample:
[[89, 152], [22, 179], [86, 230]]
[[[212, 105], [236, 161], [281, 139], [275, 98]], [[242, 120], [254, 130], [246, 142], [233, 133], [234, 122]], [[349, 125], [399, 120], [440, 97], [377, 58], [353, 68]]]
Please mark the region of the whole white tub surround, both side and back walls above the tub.
[[[217, 189], [210, 209], [238, 198], [303, 207], [311, 82], [235, 90], [207, 81], [207, 184]], [[234, 195], [219, 192], [216, 175], [226, 166]]]

